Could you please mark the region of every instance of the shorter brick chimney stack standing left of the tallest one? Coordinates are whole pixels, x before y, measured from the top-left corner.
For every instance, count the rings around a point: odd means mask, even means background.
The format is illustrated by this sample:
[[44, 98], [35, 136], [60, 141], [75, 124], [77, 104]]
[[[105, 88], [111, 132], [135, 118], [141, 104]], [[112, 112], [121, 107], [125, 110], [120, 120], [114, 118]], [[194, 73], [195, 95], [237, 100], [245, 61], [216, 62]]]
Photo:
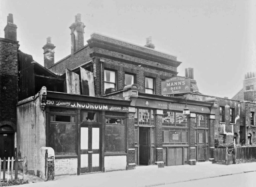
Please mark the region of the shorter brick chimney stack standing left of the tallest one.
[[54, 65], [54, 44], [52, 44], [52, 38], [46, 38], [46, 44], [43, 46], [44, 49], [44, 66], [50, 68]]

